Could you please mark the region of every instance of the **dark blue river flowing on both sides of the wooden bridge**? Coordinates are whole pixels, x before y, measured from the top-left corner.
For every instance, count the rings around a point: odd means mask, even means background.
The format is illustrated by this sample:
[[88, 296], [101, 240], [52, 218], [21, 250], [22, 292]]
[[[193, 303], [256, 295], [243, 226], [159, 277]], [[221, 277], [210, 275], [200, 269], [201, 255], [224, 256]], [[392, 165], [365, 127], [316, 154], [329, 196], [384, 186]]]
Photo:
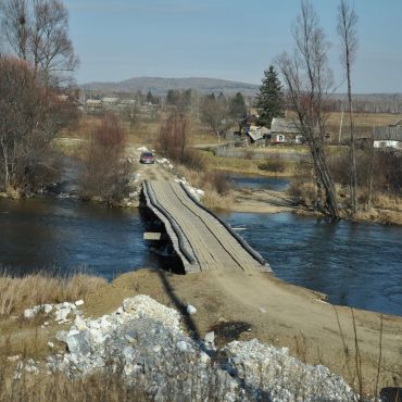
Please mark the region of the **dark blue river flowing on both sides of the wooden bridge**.
[[[241, 187], [287, 185], [274, 178], [234, 180]], [[324, 292], [337, 304], [402, 316], [402, 227], [334, 224], [290, 213], [219, 215], [240, 227], [277, 277]], [[84, 266], [109, 280], [139, 267], [177, 266], [177, 260], [160, 256], [142, 239], [147, 219], [136, 209], [68, 198], [0, 200], [0, 264], [18, 275]]]

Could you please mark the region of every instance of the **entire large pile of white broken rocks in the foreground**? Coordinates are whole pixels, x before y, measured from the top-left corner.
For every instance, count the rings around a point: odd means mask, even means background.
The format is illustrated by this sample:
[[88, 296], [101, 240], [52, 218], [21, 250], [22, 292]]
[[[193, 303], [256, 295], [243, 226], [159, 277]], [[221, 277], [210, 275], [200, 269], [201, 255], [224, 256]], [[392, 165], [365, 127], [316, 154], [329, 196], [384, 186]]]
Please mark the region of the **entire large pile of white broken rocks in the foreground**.
[[56, 338], [68, 352], [48, 356], [48, 373], [71, 378], [118, 373], [156, 401], [356, 400], [341, 377], [301, 363], [286, 349], [254, 339], [217, 350], [213, 332], [191, 339], [179, 313], [148, 296], [126, 299], [115, 313], [97, 319], [77, 315]]

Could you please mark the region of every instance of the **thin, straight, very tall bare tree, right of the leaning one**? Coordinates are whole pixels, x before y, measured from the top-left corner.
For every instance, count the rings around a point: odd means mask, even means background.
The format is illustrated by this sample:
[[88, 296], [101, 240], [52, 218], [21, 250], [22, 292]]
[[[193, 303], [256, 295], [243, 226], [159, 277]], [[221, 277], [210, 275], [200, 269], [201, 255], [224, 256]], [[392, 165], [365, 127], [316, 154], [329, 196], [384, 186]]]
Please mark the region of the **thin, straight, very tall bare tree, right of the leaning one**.
[[341, 62], [348, 83], [348, 110], [350, 123], [350, 190], [352, 199], [352, 211], [357, 212], [357, 173], [355, 156], [355, 134], [352, 104], [352, 78], [351, 70], [357, 50], [357, 15], [347, 0], [341, 0], [338, 8], [338, 34], [341, 38], [342, 53]]

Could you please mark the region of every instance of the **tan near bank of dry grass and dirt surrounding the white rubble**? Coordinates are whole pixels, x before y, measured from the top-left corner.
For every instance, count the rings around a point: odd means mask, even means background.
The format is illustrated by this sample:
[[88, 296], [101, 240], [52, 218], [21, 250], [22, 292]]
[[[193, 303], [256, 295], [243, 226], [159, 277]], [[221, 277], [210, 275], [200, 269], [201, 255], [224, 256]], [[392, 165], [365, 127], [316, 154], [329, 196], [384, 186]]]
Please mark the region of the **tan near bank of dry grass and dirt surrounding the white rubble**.
[[[398, 364], [399, 352], [394, 348], [398, 344], [395, 334], [402, 326], [401, 318], [385, 316], [380, 329], [378, 314], [354, 311], [354, 332], [350, 309], [335, 310], [330, 304], [317, 301], [317, 294], [312, 291], [260, 274], [224, 274], [223, 271], [221, 274], [176, 276], [141, 269], [122, 275], [110, 285], [99, 278], [79, 277], [79, 284], [86, 285], [80, 286], [78, 293], [72, 292], [78, 280], [75, 277], [71, 280], [60, 279], [56, 284], [53, 278], [46, 276], [34, 281], [32, 278], [9, 278], [9, 282], [12, 280], [16, 286], [14, 289], [26, 290], [16, 291], [14, 317], [3, 315], [0, 319], [0, 401], [85, 401], [89, 397], [95, 401], [143, 400], [143, 395], [138, 393], [140, 387], [136, 388], [137, 391], [127, 388], [121, 381], [118, 373], [116, 376], [106, 372], [74, 382], [58, 375], [47, 377], [29, 374], [25, 374], [21, 381], [12, 380], [16, 362], [8, 360], [9, 356], [18, 354], [22, 360], [43, 361], [50, 353], [64, 352], [65, 347], [56, 342], [54, 336], [65, 326], [58, 325], [46, 316], [38, 316], [33, 321], [21, 318], [23, 309], [32, 306], [27, 304], [27, 285], [39, 289], [38, 282], [49, 289], [56, 285], [56, 297], [43, 289], [43, 297], [30, 299], [33, 302], [59, 302], [59, 298], [64, 297], [70, 297], [71, 300], [83, 298], [84, 314], [92, 317], [114, 311], [124, 298], [135, 294], [149, 294], [168, 306], [177, 307], [177, 302], [190, 303], [198, 309], [192, 319], [201, 337], [215, 328], [216, 342], [221, 346], [234, 339], [257, 338], [275, 347], [287, 347], [292, 355], [303, 362], [327, 365], [332, 372], [344, 376], [355, 389], [360, 381], [354, 363], [356, 336], [361, 348], [362, 381], [367, 392], [374, 391], [376, 382], [381, 331], [379, 387], [400, 384], [401, 366]], [[3, 277], [3, 281], [5, 279]], [[250, 293], [247, 300], [242, 292]], [[268, 307], [273, 303], [275, 307]], [[259, 305], [266, 306], [264, 314], [259, 311]], [[310, 315], [311, 319], [306, 319]], [[50, 325], [43, 328], [42, 323], [46, 319], [49, 319]], [[230, 323], [246, 323], [246, 330], [231, 335], [217, 329], [225, 325], [229, 327]], [[48, 341], [55, 343], [54, 350], [47, 347]]]

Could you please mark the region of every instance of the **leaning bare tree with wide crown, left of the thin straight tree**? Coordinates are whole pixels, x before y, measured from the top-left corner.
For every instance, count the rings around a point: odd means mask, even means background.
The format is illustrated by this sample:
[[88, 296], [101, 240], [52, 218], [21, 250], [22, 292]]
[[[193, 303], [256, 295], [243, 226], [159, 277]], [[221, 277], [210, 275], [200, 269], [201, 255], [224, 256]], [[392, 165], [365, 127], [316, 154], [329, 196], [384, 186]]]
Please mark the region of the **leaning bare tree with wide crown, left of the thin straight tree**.
[[296, 110], [299, 129], [310, 146], [317, 183], [317, 209], [338, 218], [336, 189], [324, 143], [325, 98], [332, 85], [327, 65], [329, 45], [309, 1], [301, 3], [301, 13], [292, 27], [292, 35], [296, 42], [293, 54], [281, 54], [277, 64]]

